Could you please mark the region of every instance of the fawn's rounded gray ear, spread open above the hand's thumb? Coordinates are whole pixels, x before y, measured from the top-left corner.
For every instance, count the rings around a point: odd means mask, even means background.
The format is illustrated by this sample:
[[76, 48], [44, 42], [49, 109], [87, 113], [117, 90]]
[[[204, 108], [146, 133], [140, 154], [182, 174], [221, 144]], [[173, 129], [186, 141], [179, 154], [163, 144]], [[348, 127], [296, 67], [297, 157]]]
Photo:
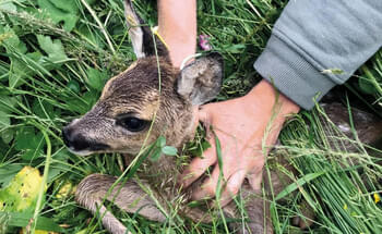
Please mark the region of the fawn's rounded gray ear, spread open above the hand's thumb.
[[194, 106], [214, 99], [222, 87], [223, 62], [219, 53], [212, 52], [184, 66], [177, 82], [178, 94]]

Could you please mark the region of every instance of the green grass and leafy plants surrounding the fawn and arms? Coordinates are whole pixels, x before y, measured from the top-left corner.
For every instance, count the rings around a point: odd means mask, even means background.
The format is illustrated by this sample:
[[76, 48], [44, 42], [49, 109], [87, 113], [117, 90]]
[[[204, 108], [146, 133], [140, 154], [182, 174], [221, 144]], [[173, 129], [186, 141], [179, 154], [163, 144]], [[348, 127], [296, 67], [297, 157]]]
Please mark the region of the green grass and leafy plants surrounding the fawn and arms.
[[[253, 61], [265, 47], [272, 25], [286, 3], [286, 0], [198, 2], [199, 34], [210, 35], [214, 49], [225, 57], [224, 87], [217, 100], [242, 96], [260, 79], [252, 69]], [[138, 9], [155, 25], [154, 1], [140, 1]], [[25, 165], [44, 172], [47, 192], [40, 193], [40, 209], [35, 214], [43, 221], [49, 218], [61, 224], [67, 233], [105, 230], [74, 202], [73, 194], [58, 197], [60, 189], [64, 185], [75, 186], [95, 172], [121, 175], [123, 165], [119, 155], [81, 158], [68, 152], [61, 128], [88, 111], [105, 82], [133, 61], [119, 0], [0, 1], [0, 185], [5, 187]], [[369, 111], [382, 115], [381, 84], [380, 51], [342, 89], [356, 96], [350, 103], [367, 106]], [[346, 103], [345, 98], [343, 101]], [[380, 159], [368, 155], [357, 140], [353, 144], [358, 146], [358, 152], [336, 147], [349, 139], [337, 137], [331, 144], [329, 139], [333, 137], [323, 131], [324, 126], [335, 132], [320, 109], [303, 111], [280, 135], [279, 150], [299, 175], [285, 173], [301, 183], [294, 186], [299, 190], [297, 196], [286, 193], [286, 201], [276, 202], [276, 195], [271, 200], [275, 232], [381, 233], [381, 202], [373, 200], [382, 189], [378, 183], [382, 176]], [[362, 163], [351, 164], [348, 159]], [[285, 171], [279, 165], [267, 165], [272, 167]], [[309, 180], [315, 173], [321, 174]], [[314, 225], [303, 232], [290, 222], [291, 217], [302, 215], [302, 198], [317, 215]], [[211, 224], [190, 223], [179, 218], [176, 209], [166, 223], [120, 211], [118, 214], [129, 230], [138, 233], [226, 230], [226, 223], [218, 217]], [[0, 224], [14, 233], [17, 230], [12, 225], [16, 223], [14, 219], [12, 222], [0, 217]]]

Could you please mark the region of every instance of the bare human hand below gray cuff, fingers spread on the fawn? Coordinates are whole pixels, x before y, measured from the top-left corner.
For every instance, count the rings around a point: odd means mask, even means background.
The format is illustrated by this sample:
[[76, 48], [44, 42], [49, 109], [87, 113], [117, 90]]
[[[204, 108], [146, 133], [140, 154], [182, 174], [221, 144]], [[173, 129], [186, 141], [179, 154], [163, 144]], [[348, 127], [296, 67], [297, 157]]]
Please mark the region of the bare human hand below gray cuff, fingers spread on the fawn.
[[[247, 96], [201, 108], [199, 120], [213, 126], [222, 146], [222, 206], [227, 205], [239, 192], [246, 177], [253, 189], [260, 189], [270, 146], [277, 140], [287, 115], [297, 113], [299, 109], [288, 98], [277, 94], [266, 81], [260, 82]], [[188, 187], [214, 165], [212, 175], [193, 193], [194, 200], [216, 196], [220, 171], [214, 137], [210, 137], [208, 141], [211, 148], [203, 152], [202, 158], [193, 159], [181, 175], [181, 184]]]

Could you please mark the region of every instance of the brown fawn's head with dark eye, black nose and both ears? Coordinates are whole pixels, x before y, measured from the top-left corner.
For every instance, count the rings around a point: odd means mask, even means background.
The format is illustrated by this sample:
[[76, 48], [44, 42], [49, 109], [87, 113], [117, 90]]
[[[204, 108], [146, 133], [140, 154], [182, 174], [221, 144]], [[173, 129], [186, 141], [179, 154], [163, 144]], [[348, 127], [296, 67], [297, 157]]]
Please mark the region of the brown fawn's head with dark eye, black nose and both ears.
[[217, 53], [176, 69], [165, 45], [140, 26], [143, 22], [128, 0], [124, 12], [138, 60], [107, 82], [91, 111], [63, 128], [65, 145], [77, 155], [133, 155], [160, 135], [178, 147], [193, 134], [193, 108], [220, 89], [223, 60]]

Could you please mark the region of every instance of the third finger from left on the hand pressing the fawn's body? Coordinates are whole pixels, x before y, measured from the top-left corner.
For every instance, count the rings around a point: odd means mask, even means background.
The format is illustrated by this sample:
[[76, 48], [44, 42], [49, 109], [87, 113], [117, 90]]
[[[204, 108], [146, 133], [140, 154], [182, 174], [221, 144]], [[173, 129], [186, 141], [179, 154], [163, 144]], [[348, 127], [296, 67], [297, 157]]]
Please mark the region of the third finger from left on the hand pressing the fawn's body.
[[246, 170], [235, 172], [228, 180], [220, 197], [220, 206], [225, 207], [239, 193], [242, 182], [246, 178]]

